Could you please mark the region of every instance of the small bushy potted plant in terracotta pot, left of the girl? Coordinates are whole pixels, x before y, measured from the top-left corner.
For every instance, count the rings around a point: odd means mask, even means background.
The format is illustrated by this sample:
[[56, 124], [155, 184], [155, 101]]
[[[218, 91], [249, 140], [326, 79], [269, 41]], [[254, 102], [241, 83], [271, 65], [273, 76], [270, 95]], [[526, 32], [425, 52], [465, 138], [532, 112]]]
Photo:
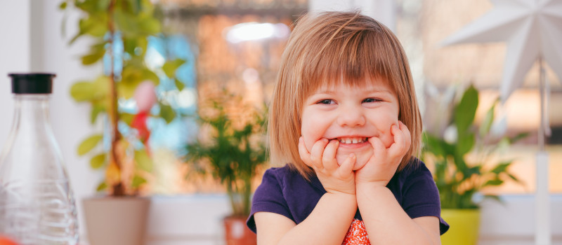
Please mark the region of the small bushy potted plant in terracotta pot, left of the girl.
[[226, 188], [233, 211], [224, 218], [226, 244], [256, 244], [256, 235], [245, 221], [251, 207], [252, 180], [267, 160], [265, 112], [242, 106], [240, 98], [227, 94], [218, 98], [200, 106], [200, 122], [209, 130], [202, 130], [204, 135], [186, 146], [185, 160]]

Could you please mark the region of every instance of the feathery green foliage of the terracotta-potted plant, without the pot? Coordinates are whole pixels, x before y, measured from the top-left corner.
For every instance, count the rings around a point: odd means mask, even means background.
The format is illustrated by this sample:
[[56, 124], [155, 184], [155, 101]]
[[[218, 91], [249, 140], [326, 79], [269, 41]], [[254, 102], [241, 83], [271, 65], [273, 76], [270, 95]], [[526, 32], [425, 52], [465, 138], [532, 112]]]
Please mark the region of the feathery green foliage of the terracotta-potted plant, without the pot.
[[[226, 99], [228, 103], [233, 101], [236, 100]], [[214, 116], [200, 115], [201, 123], [212, 128], [213, 132], [204, 136], [210, 137], [211, 143], [197, 140], [188, 144], [185, 160], [192, 165], [207, 163], [195, 169], [200, 174], [210, 173], [226, 187], [234, 216], [247, 216], [251, 206], [251, 180], [256, 176], [256, 169], [267, 160], [263, 140], [266, 112], [255, 113], [247, 118], [247, 123], [234, 127], [222, 103], [212, 102]]]

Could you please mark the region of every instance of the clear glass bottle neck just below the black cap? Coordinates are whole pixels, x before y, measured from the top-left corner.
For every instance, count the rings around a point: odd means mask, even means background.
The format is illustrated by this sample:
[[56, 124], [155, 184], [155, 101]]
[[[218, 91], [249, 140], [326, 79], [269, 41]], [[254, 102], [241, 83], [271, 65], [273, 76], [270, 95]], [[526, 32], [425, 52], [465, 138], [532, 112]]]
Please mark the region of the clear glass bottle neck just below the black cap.
[[50, 94], [15, 94], [14, 126], [36, 127], [48, 125]]

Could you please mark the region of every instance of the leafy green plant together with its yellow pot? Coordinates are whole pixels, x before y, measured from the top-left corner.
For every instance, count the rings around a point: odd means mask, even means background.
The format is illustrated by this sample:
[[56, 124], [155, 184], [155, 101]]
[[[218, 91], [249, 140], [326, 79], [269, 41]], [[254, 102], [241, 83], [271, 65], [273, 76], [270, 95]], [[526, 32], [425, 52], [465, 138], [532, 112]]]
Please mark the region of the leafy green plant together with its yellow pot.
[[[509, 172], [513, 160], [491, 160], [499, 149], [507, 148], [526, 135], [506, 137], [490, 132], [497, 103], [498, 100], [488, 109], [482, 123], [476, 125], [474, 118], [478, 107], [478, 90], [471, 85], [464, 90], [460, 101], [453, 104], [447, 129], [424, 132], [421, 156], [424, 162], [433, 165], [441, 215], [451, 225], [441, 239], [445, 245], [476, 244], [480, 211], [474, 195], [488, 186], [502, 185], [504, 181], [520, 182]], [[446, 111], [436, 113], [447, 114]], [[484, 197], [499, 200], [497, 195]]]

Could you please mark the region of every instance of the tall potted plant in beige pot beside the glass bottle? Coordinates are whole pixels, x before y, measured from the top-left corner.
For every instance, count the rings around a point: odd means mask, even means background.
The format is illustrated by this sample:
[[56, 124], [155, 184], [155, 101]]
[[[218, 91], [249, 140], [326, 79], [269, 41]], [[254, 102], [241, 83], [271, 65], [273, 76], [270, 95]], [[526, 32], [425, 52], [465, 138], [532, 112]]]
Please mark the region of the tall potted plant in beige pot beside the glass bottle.
[[[91, 105], [91, 123], [103, 120], [103, 130], [86, 137], [78, 146], [79, 155], [89, 155], [93, 169], [105, 170], [98, 191], [107, 196], [84, 200], [84, 214], [90, 244], [142, 244], [150, 199], [139, 197], [150, 176], [149, 118], [176, 117], [165, 97], [157, 96], [160, 78], [176, 81], [176, 69], [183, 60], [174, 59], [156, 70], [148, 69], [145, 53], [148, 37], [159, 34], [161, 21], [148, 0], [67, 0], [62, 10], [81, 12], [78, 38], [89, 36], [84, 65], [103, 64], [97, 78], [77, 81], [70, 89], [76, 102]], [[63, 22], [63, 27], [65, 22]], [[63, 28], [64, 29], [64, 28]], [[158, 74], [158, 75], [157, 75]], [[133, 109], [118, 104], [133, 102]], [[124, 222], [124, 223], [120, 223]]]

